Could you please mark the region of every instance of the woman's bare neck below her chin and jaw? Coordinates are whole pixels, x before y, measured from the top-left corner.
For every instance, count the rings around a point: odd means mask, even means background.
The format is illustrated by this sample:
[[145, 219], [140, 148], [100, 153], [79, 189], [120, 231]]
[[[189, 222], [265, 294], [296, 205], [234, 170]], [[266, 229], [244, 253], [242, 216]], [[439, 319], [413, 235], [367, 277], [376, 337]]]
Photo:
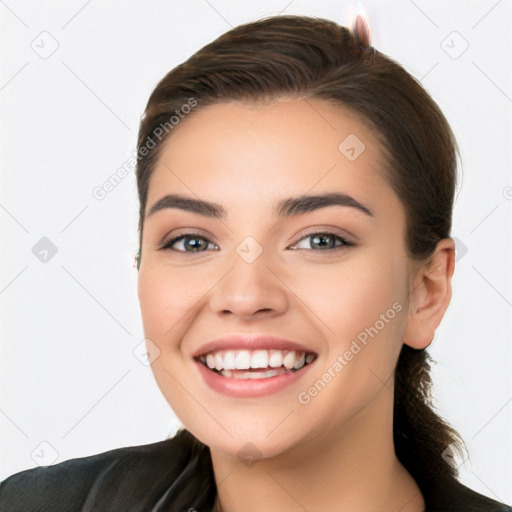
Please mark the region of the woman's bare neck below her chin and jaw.
[[393, 393], [379, 395], [343, 432], [319, 434], [251, 466], [211, 449], [218, 510], [423, 512], [421, 492], [395, 455]]

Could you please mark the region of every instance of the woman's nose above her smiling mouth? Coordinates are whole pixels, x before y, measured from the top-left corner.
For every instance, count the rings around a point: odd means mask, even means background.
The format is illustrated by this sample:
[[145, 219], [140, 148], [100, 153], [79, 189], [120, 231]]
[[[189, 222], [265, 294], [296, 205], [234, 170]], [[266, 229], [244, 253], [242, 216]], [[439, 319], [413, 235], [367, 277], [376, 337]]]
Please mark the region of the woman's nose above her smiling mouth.
[[232, 262], [211, 291], [209, 306], [213, 313], [253, 320], [286, 312], [289, 290], [279, 271], [267, 266], [263, 255], [248, 263], [235, 254]]

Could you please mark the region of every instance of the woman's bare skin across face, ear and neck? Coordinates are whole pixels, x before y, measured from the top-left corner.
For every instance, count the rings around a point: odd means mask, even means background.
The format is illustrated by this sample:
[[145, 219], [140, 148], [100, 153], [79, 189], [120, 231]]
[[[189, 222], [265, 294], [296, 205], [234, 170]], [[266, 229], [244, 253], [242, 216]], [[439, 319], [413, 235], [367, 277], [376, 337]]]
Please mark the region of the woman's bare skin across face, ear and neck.
[[[338, 149], [349, 134], [366, 146], [354, 161]], [[145, 336], [160, 351], [156, 382], [210, 447], [220, 510], [423, 511], [394, 453], [393, 371], [402, 344], [428, 346], [448, 307], [453, 241], [441, 240], [429, 261], [408, 257], [404, 208], [385, 179], [382, 146], [356, 115], [321, 101], [209, 106], [182, 121], [162, 149], [146, 212], [169, 193], [227, 211], [223, 220], [176, 208], [146, 218], [138, 280]], [[272, 213], [280, 199], [333, 191], [373, 216], [348, 206]], [[324, 231], [355, 245], [319, 249], [307, 235]], [[183, 240], [159, 250], [186, 232], [211, 242], [207, 250], [184, 252]], [[263, 249], [250, 264], [236, 252], [247, 236]], [[401, 306], [393, 319], [300, 403], [298, 394], [393, 304]], [[192, 353], [232, 333], [296, 340], [318, 358], [278, 393], [230, 398], [204, 383]], [[238, 455], [247, 443], [257, 448], [252, 465]]]

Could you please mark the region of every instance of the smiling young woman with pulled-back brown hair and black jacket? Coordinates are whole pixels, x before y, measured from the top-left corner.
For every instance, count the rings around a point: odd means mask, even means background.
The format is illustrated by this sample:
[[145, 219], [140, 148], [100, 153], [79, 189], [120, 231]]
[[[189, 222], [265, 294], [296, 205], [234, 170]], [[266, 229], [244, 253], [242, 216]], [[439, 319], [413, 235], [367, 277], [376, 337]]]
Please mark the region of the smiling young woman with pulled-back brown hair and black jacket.
[[278, 16], [160, 81], [138, 295], [184, 428], [13, 475], [2, 511], [512, 510], [458, 482], [460, 439], [430, 402], [457, 145], [369, 42], [361, 22]]

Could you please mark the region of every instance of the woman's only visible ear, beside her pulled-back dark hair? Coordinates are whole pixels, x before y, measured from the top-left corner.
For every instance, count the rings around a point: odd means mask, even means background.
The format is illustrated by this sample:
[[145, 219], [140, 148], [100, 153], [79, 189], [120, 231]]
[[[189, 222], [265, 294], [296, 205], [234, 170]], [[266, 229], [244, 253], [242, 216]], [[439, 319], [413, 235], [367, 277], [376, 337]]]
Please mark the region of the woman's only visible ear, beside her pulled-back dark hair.
[[415, 272], [404, 333], [406, 345], [422, 349], [432, 343], [452, 297], [454, 269], [455, 242], [443, 238], [428, 261]]

